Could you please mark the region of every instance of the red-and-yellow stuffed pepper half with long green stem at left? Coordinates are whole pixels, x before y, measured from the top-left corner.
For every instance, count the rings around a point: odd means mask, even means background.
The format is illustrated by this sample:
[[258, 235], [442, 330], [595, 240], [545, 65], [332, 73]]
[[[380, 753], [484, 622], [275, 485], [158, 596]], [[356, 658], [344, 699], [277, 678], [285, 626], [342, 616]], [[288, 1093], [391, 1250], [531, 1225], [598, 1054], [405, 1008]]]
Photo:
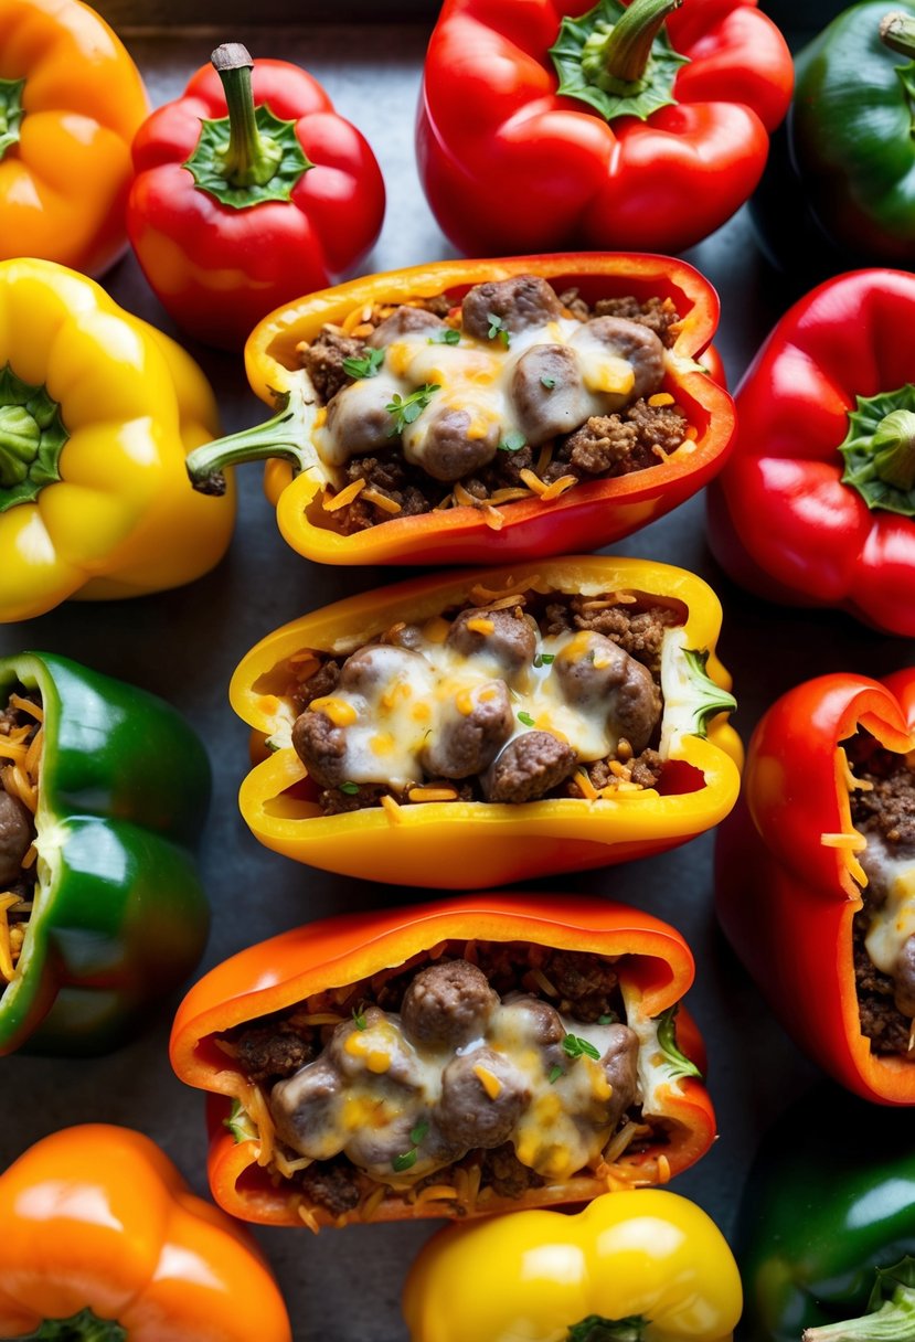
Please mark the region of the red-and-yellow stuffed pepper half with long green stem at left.
[[197, 488], [274, 458], [286, 541], [326, 564], [598, 549], [720, 468], [731, 400], [702, 366], [718, 297], [684, 262], [440, 262], [266, 318], [248, 380], [276, 415], [193, 452]]

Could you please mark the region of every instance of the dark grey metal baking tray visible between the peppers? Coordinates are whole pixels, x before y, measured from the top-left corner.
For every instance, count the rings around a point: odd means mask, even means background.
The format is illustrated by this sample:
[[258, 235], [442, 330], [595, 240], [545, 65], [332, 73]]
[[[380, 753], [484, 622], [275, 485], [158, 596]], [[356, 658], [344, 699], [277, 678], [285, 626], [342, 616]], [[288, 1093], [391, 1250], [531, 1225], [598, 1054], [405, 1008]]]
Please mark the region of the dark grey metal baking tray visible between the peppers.
[[[181, 12], [205, 17], [208, 11], [209, 5], [199, 5]], [[358, 4], [341, 13], [356, 11]], [[264, 11], [266, 16], [275, 12]], [[377, 9], [370, 12], [377, 16]], [[424, 17], [429, 9], [419, 0], [409, 11], [415, 21], [358, 27], [246, 28], [227, 23], [219, 31], [186, 25], [160, 31], [149, 23], [166, 16], [168, 7], [148, 7], [138, 15], [136, 7], [118, 11], [117, 4], [109, 4], [109, 13], [118, 21], [154, 105], [176, 97], [191, 71], [223, 40], [240, 40], [255, 56], [282, 56], [309, 68], [338, 110], [368, 136], [388, 184], [384, 231], [362, 268], [389, 270], [453, 255], [421, 195], [413, 160], [413, 117], [431, 25], [431, 17]], [[227, 13], [231, 17], [231, 5]], [[796, 9], [796, 23], [812, 20], [813, 13], [814, 7]], [[127, 16], [133, 16], [131, 24]], [[299, 17], [303, 23], [311, 17], [307, 7]], [[686, 255], [720, 294], [716, 345], [734, 385], [796, 295], [763, 262], [746, 211]], [[105, 283], [125, 307], [178, 334], [133, 258], [125, 258]], [[264, 417], [264, 407], [247, 389], [240, 356], [193, 344], [188, 348], [217, 391], [225, 431]], [[294, 554], [279, 538], [272, 509], [263, 498], [260, 467], [241, 467], [239, 484], [240, 513], [231, 550], [201, 581], [129, 603], [70, 603], [40, 619], [0, 627], [0, 654], [24, 648], [66, 654], [164, 695], [201, 733], [215, 774], [201, 847], [213, 923], [201, 972], [301, 922], [424, 898], [423, 891], [398, 891], [299, 867], [259, 847], [239, 817], [236, 792], [247, 770], [247, 729], [231, 713], [225, 694], [236, 663], [276, 625], [378, 582], [376, 572], [323, 569]], [[614, 552], [691, 569], [718, 590], [724, 607], [720, 655], [734, 675], [739, 703], [734, 723], [745, 739], [763, 709], [801, 679], [833, 670], [883, 675], [915, 662], [911, 641], [884, 637], [840, 613], [778, 609], [731, 585], [707, 549], [702, 498]], [[390, 581], [405, 576], [407, 570], [384, 574]], [[818, 1072], [770, 1019], [718, 933], [711, 860], [712, 836], [707, 835], [627, 867], [551, 878], [542, 888], [594, 892], [643, 906], [679, 927], [692, 946], [696, 985], [688, 1000], [708, 1043], [708, 1086], [720, 1137], [674, 1188], [695, 1198], [726, 1235], [733, 1235], [741, 1186], [762, 1131]], [[193, 1188], [207, 1194], [204, 1099], [170, 1071], [170, 1015], [165, 1011], [134, 1044], [98, 1060], [4, 1059], [0, 1161], [5, 1165], [58, 1127], [115, 1122], [148, 1133]], [[404, 1342], [400, 1288], [431, 1232], [431, 1224], [419, 1223], [350, 1227], [319, 1236], [305, 1228], [256, 1233], [286, 1296], [297, 1342], [325, 1342], [329, 1337], [335, 1342]]]

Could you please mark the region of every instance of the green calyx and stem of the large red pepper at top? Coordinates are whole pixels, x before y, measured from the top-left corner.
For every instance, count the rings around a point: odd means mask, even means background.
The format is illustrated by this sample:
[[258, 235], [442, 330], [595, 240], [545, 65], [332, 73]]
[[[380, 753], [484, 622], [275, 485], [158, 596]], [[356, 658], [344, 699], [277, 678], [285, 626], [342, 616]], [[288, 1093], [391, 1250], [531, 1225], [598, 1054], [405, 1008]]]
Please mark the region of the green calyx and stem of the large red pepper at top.
[[683, 0], [598, 0], [580, 19], [566, 16], [550, 47], [557, 93], [578, 98], [606, 121], [647, 121], [676, 103], [674, 83], [688, 56], [671, 47], [664, 20]]

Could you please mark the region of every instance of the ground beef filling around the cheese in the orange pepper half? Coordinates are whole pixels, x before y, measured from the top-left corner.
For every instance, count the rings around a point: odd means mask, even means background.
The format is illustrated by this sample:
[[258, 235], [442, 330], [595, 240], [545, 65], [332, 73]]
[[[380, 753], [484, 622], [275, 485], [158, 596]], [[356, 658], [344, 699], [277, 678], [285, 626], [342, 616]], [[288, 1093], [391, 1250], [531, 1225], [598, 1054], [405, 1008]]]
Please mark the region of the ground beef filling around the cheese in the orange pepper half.
[[[317, 1064], [310, 1072], [319, 1083], [313, 1090], [319, 1092], [326, 1078], [322, 1080], [318, 1072], [334, 1053], [346, 1059], [346, 1039], [356, 1032], [358, 1040], [358, 1023], [365, 1029], [366, 1023], [370, 1025], [381, 1013], [396, 1013], [393, 1020], [402, 1023], [404, 1036], [416, 1048], [455, 1051], [443, 1074], [439, 1118], [433, 1119], [431, 1131], [427, 1123], [427, 1131], [421, 1137], [423, 1145], [435, 1142], [445, 1155], [449, 1147], [453, 1149], [453, 1158], [443, 1164], [441, 1157], [437, 1168], [419, 1177], [411, 1189], [398, 1186], [393, 1173], [388, 1185], [377, 1173], [368, 1174], [342, 1153], [295, 1168], [287, 1176], [290, 1182], [310, 1204], [335, 1217], [358, 1208], [380, 1184], [385, 1186], [386, 1196], [407, 1201], [421, 1197], [423, 1189], [432, 1185], [436, 1192], [443, 1186], [474, 1190], [488, 1188], [496, 1197], [521, 1198], [525, 1192], [541, 1188], [549, 1180], [530, 1164], [521, 1161], [513, 1142], [500, 1137], [498, 1106], [507, 1108], [514, 1103], [517, 1110], [519, 1103], [518, 1096], [511, 1092], [508, 1079], [503, 1078], [504, 1086], [498, 1099], [487, 1100], [479, 1087], [474, 1090], [472, 1078], [456, 1075], [459, 1071], [468, 1072], [474, 1057], [486, 1055], [487, 1062], [495, 1059], [494, 1066], [499, 1066], [502, 1055], [490, 1057], [487, 1048], [478, 1048], [476, 1052], [471, 1048], [467, 1052], [467, 1047], [484, 1028], [482, 1021], [486, 1013], [506, 997], [510, 1002], [529, 1004], [526, 1009], [534, 1016], [542, 1013], [538, 1047], [551, 1051], [550, 1057], [555, 1053], [563, 1071], [578, 1063], [573, 1063], [559, 1047], [561, 1031], [566, 1028], [557, 1025], [559, 1015], [566, 1024], [578, 1023], [581, 1028], [594, 1024], [612, 1027], [620, 1035], [617, 1056], [608, 1056], [605, 1060], [614, 1083], [612, 1092], [616, 1095], [613, 1142], [618, 1145], [623, 1135], [621, 1149], [637, 1151], [644, 1150], [649, 1141], [663, 1141], [660, 1125], [649, 1126], [643, 1119], [637, 1098], [636, 1043], [635, 1035], [625, 1027], [620, 992], [620, 969], [624, 962], [586, 951], [551, 950], [521, 942], [448, 942], [429, 953], [415, 956], [397, 969], [384, 970], [347, 988], [326, 990], [287, 1012], [228, 1031], [219, 1036], [217, 1044], [275, 1103], [284, 1087], [297, 1083], [299, 1076], [309, 1076], [309, 1071], [302, 1071], [309, 1063]], [[397, 1067], [402, 1068], [405, 1063], [394, 1055], [394, 1074]], [[445, 1083], [448, 1075], [449, 1098]], [[404, 1094], [409, 1095], [411, 1087], [416, 1084], [415, 1079], [404, 1074], [398, 1080], [405, 1087]], [[445, 1111], [447, 1103], [451, 1104], [449, 1113]], [[476, 1110], [487, 1111], [487, 1119], [492, 1119], [488, 1126], [479, 1119]], [[309, 1114], [306, 1126], [313, 1122], [314, 1117]], [[479, 1146], [462, 1150], [472, 1143], [475, 1134], [480, 1134]], [[295, 1164], [297, 1151], [284, 1146], [282, 1139], [282, 1121], [278, 1137], [286, 1158]], [[388, 1138], [382, 1129], [372, 1141], [376, 1147], [380, 1142], [393, 1142], [390, 1151], [373, 1147], [372, 1158], [376, 1162], [384, 1161], [385, 1168], [393, 1165], [396, 1169], [402, 1135], [394, 1130]], [[385, 1159], [392, 1153], [393, 1162]], [[593, 1170], [577, 1173], [590, 1176]], [[402, 1178], [400, 1184], [402, 1185]], [[468, 1206], [459, 1196], [451, 1209], [460, 1216], [466, 1215]]]

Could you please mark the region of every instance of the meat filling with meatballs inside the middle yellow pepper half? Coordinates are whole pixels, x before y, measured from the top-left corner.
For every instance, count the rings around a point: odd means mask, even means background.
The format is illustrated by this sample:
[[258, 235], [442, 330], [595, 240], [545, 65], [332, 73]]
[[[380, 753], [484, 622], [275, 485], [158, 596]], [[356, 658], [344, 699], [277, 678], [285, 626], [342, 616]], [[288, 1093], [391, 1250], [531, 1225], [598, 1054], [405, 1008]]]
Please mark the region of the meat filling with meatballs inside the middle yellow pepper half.
[[[284, 691], [298, 714], [292, 745], [318, 789], [323, 815], [389, 804], [385, 798], [397, 805], [522, 804], [553, 797], [594, 800], [659, 784], [661, 647], [665, 631], [682, 623], [679, 611], [636, 593], [542, 596], [529, 590], [517, 593], [508, 604], [504, 599], [488, 604], [482, 599], [479, 605], [445, 612], [440, 623], [447, 633], [440, 631], [439, 637], [448, 654], [458, 651], [470, 658], [484, 648], [488, 656], [491, 648], [499, 675], [474, 702], [466, 702], [460, 713], [429, 719], [435, 731], [421, 733], [421, 753], [408, 760], [408, 765], [416, 765], [416, 773], [402, 784], [392, 782], [393, 774], [388, 778], [358, 774], [354, 761], [361, 757], [347, 745], [353, 738], [347, 737], [339, 699], [350, 690], [369, 692], [365, 687], [373, 680], [376, 695], [381, 683], [378, 703], [405, 694], [397, 678], [402, 682], [420, 663], [423, 674], [429, 670], [423, 651], [432, 655], [433, 650], [423, 641], [423, 631], [401, 623], [349, 658], [309, 652], [311, 660], [303, 654], [297, 662], [301, 670]], [[545, 648], [559, 652], [538, 651]], [[546, 717], [541, 713], [537, 719], [526, 711], [529, 701], [523, 699], [523, 687], [530, 686], [535, 674], [549, 674], [557, 686], [546, 701], [531, 699], [531, 707], [539, 705], [537, 711], [541, 711], [543, 702], [558, 703], [555, 713]], [[535, 692], [542, 691], [535, 687]], [[431, 695], [432, 691], [425, 692], [427, 698]], [[424, 698], [423, 686], [416, 698]], [[350, 718], [353, 702], [362, 703], [350, 696], [342, 705]], [[596, 758], [589, 758], [584, 749], [577, 753], [569, 743], [568, 731], [541, 726], [555, 719], [569, 727], [569, 719], [557, 714], [580, 711], [592, 726], [610, 725], [609, 735], [601, 737], [612, 741], [609, 753], [597, 752]], [[380, 719], [382, 727], [385, 722]], [[404, 726], [394, 719], [388, 734], [400, 738], [409, 730], [419, 729], [409, 721]], [[594, 739], [588, 727], [582, 731], [585, 739]]]

